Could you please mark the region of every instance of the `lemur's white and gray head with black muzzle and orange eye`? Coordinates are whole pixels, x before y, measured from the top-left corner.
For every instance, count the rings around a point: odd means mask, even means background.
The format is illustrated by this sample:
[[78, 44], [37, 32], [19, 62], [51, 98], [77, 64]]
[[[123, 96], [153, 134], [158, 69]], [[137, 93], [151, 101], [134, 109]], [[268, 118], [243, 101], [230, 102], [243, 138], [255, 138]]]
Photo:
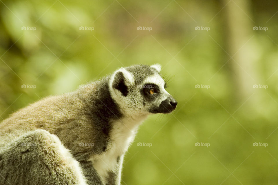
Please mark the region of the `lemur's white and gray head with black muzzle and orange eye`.
[[161, 66], [135, 65], [111, 75], [111, 97], [125, 114], [171, 113], [178, 102], [165, 90]]

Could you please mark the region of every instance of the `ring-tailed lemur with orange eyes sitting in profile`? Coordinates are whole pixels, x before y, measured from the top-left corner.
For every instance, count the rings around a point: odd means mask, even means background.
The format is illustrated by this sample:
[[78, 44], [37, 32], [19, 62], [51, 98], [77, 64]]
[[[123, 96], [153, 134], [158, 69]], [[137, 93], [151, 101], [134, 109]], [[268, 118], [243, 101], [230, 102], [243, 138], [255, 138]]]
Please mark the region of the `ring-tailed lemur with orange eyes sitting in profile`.
[[0, 184], [120, 184], [123, 157], [140, 123], [176, 108], [160, 69], [120, 68], [3, 120]]

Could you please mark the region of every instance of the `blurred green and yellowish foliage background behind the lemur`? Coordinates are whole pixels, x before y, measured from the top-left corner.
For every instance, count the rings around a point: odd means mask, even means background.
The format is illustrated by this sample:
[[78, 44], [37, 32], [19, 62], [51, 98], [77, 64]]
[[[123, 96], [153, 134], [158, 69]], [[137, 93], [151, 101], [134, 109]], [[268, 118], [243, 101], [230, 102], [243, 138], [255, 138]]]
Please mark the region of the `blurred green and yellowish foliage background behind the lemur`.
[[0, 119], [160, 63], [178, 106], [140, 127], [122, 184], [277, 184], [277, 11], [270, 0], [1, 0]]

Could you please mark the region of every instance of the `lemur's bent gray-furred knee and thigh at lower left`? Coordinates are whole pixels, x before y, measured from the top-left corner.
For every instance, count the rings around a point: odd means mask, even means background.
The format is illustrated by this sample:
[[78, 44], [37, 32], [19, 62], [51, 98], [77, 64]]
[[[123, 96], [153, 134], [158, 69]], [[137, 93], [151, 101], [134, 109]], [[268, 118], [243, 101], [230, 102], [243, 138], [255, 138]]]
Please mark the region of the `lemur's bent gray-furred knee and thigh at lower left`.
[[53, 135], [39, 129], [1, 148], [0, 184], [78, 184], [77, 175], [59, 145]]

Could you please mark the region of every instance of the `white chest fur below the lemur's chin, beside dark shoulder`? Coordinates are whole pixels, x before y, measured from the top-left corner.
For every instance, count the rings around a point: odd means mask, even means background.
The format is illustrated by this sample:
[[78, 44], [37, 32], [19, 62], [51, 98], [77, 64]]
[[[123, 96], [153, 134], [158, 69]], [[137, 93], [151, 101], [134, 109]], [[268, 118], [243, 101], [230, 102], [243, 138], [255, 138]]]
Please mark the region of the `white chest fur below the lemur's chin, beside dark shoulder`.
[[124, 155], [131, 142], [133, 142], [142, 120], [129, 118], [114, 122], [109, 133], [111, 143], [107, 146], [107, 150], [90, 158], [104, 183], [106, 183], [108, 178], [108, 172], [117, 173], [116, 170], [118, 169], [118, 176], [120, 176], [122, 164], [117, 163], [117, 158]]

